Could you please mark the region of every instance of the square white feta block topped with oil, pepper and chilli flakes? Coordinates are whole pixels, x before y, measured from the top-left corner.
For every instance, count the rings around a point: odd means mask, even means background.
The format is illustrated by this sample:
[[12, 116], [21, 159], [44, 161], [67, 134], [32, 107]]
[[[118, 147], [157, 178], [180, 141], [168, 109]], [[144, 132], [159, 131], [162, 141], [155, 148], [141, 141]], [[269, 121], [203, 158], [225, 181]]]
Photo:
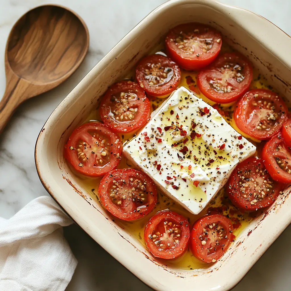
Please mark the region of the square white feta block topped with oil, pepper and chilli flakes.
[[162, 192], [193, 214], [203, 210], [235, 166], [255, 150], [216, 109], [184, 87], [123, 147], [124, 155]]

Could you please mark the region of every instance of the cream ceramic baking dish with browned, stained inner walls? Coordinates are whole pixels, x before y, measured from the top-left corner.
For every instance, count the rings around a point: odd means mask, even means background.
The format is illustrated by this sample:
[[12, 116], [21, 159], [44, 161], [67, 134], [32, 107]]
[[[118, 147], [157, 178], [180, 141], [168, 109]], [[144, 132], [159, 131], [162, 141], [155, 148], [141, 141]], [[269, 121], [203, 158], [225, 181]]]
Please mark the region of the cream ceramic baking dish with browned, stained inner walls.
[[[291, 39], [267, 19], [212, 0], [173, 0], [159, 6], [95, 65], [61, 102], [42, 128], [36, 167], [49, 194], [96, 242], [155, 290], [229, 290], [242, 279], [291, 222], [290, 189], [272, 208], [245, 228], [217, 263], [191, 271], [161, 265], [134, 237], [118, 226], [77, 182], [65, 163], [63, 145], [97, 106], [108, 86], [122, 79], [167, 31], [185, 22], [210, 23], [224, 41], [253, 62], [278, 91], [291, 98]], [[290, 195], [291, 196], [291, 195]]]

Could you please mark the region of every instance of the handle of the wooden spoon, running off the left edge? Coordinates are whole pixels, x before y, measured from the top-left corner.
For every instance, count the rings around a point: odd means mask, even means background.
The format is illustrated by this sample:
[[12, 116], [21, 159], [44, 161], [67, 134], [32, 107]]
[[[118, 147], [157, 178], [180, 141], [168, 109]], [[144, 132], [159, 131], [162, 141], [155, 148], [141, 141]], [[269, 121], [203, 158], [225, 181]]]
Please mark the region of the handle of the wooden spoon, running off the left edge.
[[6, 76], [6, 89], [0, 101], [0, 133], [17, 106], [28, 97], [29, 83], [13, 72]]

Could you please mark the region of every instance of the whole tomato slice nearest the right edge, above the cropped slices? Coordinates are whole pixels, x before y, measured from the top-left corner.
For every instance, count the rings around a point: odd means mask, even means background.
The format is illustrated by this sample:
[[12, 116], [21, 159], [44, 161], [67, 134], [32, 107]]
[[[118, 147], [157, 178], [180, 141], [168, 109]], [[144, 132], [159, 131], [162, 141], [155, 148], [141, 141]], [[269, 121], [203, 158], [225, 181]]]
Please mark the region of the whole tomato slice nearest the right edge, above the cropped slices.
[[276, 93], [253, 89], [237, 102], [234, 119], [237, 127], [256, 139], [277, 134], [287, 118], [288, 108]]

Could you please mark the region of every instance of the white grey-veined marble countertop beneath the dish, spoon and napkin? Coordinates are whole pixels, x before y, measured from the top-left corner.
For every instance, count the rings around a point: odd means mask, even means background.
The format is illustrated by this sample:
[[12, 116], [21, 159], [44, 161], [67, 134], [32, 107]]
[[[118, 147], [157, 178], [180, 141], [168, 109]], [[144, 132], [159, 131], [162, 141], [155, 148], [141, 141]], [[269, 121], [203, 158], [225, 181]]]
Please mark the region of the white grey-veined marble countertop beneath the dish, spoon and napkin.
[[[130, 29], [163, 0], [55, 0], [75, 10], [88, 25], [90, 48], [80, 68], [58, 88], [22, 104], [0, 136], [0, 216], [9, 218], [33, 198], [46, 195], [36, 173], [34, 145], [49, 114], [84, 75]], [[291, 34], [290, 0], [223, 0], [261, 14]], [[0, 0], [0, 56], [15, 21], [44, 0]], [[5, 89], [4, 57], [0, 57], [0, 95]], [[65, 229], [79, 264], [67, 291], [149, 291], [83, 230]], [[291, 226], [276, 240], [243, 280], [233, 289], [291, 290]], [[242, 262], [243, 264], [244, 262]], [[2, 291], [2, 290], [1, 290]], [[3, 290], [5, 291], [5, 290]]]

